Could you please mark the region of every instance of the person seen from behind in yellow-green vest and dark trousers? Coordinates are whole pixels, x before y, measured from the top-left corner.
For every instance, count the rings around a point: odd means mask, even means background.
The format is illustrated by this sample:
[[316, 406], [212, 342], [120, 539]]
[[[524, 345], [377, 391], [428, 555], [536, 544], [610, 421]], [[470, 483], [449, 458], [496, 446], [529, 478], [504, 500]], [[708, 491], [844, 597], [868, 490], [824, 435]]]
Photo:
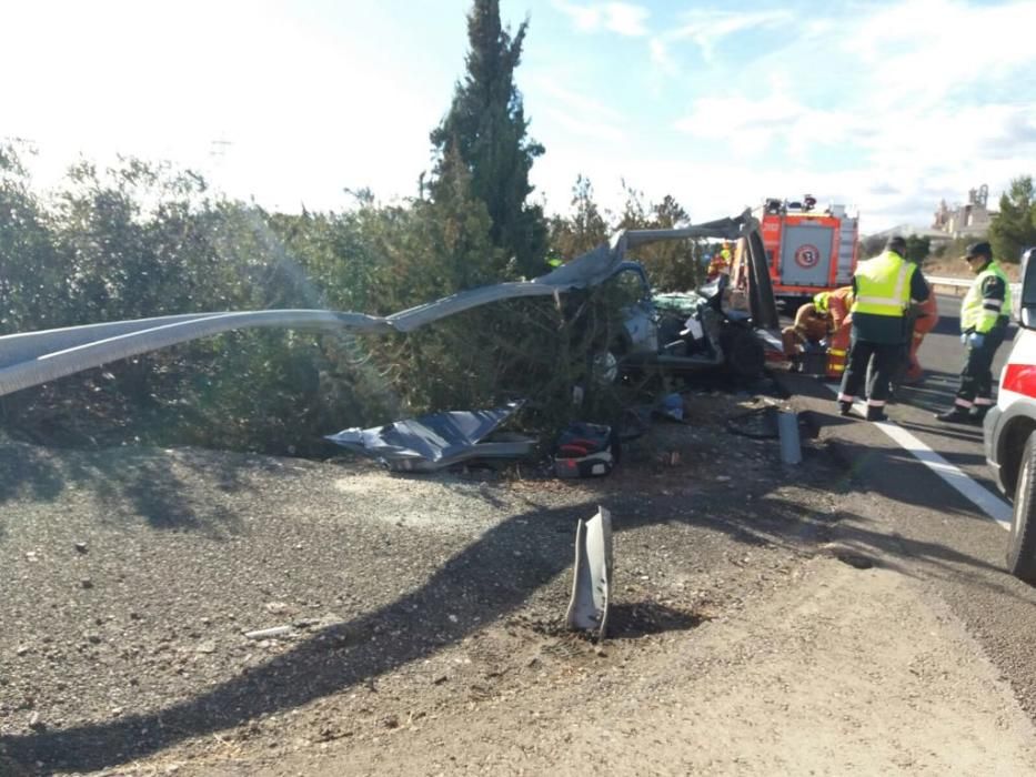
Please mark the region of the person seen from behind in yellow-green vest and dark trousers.
[[906, 241], [898, 235], [889, 238], [885, 251], [861, 262], [853, 275], [853, 340], [838, 392], [842, 415], [849, 414], [869, 372], [867, 421], [886, 418], [888, 382], [909, 334], [906, 311], [912, 299], [924, 302], [929, 293], [917, 265], [905, 256]]

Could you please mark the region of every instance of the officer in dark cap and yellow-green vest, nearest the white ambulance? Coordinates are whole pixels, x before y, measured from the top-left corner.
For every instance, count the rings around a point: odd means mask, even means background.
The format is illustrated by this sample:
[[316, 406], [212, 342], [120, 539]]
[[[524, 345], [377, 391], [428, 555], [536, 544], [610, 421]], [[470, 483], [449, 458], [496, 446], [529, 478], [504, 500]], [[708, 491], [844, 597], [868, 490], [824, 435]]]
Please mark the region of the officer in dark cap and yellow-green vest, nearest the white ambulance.
[[953, 407], [935, 417], [982, 423], [993, 406], [993, 357], [1010, 323], [1010, 283], [993, 261], [989, 243], [968, 245], [964, 259], [976, 276], [960, 303], [960, 342], [967, 355]]

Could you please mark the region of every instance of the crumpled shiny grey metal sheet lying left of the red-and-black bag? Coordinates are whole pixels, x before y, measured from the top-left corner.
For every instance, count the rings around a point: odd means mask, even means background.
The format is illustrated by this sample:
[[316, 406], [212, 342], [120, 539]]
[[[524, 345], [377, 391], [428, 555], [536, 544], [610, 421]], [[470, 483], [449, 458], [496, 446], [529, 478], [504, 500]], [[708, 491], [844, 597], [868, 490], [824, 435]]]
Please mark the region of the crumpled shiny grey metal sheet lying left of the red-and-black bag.
[[348, 428], [325, 440], [376, 458], [394, 472], [435, 472], [472, 458], [522, 458], [533, 452], [535, 440], [515, 435], [505, 442], [483, 442], [522, 404], [432, 413], [373, 428]]

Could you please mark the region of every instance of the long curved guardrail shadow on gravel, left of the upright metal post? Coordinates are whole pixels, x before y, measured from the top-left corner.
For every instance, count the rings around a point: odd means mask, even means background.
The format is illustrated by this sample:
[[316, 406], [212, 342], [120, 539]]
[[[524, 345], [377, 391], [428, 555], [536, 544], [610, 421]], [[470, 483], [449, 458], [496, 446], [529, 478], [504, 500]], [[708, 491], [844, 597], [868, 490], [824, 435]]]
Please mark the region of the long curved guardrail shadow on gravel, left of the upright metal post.
[[[248, 674], [148, 715], [0, 738], [0, 755], [26, 768], [39, 761], [44, 771], [101, 769], [364, 683], [522, 605], [530, 591], [572, 564], [571, 541], [557, 541], [557, 524], [567, 522], [574, 529], [577, 518], [595, 509], [585, 505], [514, 516], [446, 562], [420, 589], [325, 628]], [[540, 535], [543, 542], [536, 542]], [[536, 552], [515, 565], [515, 549], [526, 547]]]

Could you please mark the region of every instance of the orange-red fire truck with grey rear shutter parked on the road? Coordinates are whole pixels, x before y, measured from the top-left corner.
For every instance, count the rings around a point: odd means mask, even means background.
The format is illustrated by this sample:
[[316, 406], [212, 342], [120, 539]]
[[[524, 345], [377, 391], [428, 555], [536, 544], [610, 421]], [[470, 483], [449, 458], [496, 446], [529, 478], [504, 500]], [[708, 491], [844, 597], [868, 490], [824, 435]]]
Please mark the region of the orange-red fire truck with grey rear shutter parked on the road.
[[[816, 199], [767, 199], [753, 211], [760, 221], [774, 296], [794, 311], [814, 294], [852, 282], [859, 252], [859, 216], [845, 205], [818, 210]], [[744, 241], [735, 246], [734, 276]]]

